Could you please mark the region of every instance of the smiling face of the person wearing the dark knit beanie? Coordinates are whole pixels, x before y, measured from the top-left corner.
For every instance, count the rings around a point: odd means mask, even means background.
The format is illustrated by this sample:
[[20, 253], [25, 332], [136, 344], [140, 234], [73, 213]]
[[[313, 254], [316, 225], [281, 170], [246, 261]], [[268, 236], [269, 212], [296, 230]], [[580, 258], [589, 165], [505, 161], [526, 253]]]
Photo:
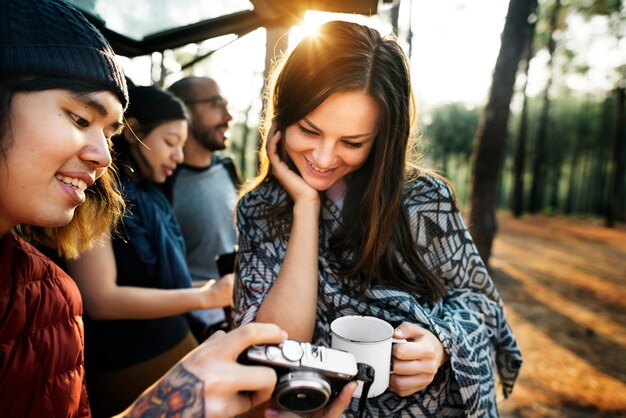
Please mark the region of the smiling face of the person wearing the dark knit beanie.
[[17, 224], [60, 227], [111, 164], [122, 105], [110, 92], [16, 93], [0, 164], [0, 236]]

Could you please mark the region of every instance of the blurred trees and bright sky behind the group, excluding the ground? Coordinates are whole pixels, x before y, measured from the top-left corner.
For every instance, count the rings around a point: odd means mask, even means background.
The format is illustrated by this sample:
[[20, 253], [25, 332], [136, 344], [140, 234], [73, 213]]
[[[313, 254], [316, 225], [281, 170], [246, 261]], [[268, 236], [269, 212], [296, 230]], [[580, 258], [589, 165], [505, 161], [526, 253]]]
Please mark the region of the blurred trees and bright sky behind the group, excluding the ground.
[[[624, 0], [396, 0], [377, 15], [311, 12], [300, 26], [211, 39], [125, 68], [139, 84], [216, 78], [234, 115], [228, 152], [250, 177], [272, 60], [326, 20], [395, 33], [411, 59], [423, 162], [451, 180], [488, 261], [497, 210], [624, 220], [625, 9]], [[474, 32], [474, 45], [462, 42]]]

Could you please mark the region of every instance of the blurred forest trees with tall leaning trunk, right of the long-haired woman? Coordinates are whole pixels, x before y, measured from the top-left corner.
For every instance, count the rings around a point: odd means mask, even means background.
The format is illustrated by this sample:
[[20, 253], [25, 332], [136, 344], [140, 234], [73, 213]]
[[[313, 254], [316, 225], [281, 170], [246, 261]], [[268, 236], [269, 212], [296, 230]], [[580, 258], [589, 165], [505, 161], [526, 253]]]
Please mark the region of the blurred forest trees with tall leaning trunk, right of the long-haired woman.
[[[619, 51], [626, 34], [624, 3], [510, 0], [480, 116], [459, 104], [432, 112], [425, 134], [434, 162], [457, 187], [469, 185], [460, 198], [469, 196], [469, 229], [485, 262], [499, 208], [516, 217], [540, 211], [603, 215], [608, 227], [624, 220], [626, 56], [607, 75], [611, 91], [581, 97], [567, 83], [572, 75], [584, 78], [594, 64], [570, 47], [570, 22], [603, 18], [608, 33], [602, 38]], [[542, 94], [530, 97], [529, 68], [537, 51], [547, 55], [547, 78]], [[522, 97], [518, 112], [511, 111], [515, 93]], [[457, 178], [466, 175], [467, 165], [469, 178]]]

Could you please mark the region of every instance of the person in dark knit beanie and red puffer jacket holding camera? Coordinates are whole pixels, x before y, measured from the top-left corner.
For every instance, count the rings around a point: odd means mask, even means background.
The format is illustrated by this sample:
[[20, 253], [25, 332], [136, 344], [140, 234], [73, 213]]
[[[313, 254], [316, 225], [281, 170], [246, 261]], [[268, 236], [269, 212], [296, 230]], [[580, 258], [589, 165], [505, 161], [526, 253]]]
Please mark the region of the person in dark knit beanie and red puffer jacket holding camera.
[[[76, 258], [119, 220], [109, 144], [127, 104], [111, 47], [79, 11], [0, 0], [0, 417], [91, 416], [80, 293], [32, 243]], [[269, 399], [276, 373], [238, 355], [284, 339], [269, 324], [220, 332], [122, 415], [241, 414]], [[327, 416], [339, 416], [354, 386]]]

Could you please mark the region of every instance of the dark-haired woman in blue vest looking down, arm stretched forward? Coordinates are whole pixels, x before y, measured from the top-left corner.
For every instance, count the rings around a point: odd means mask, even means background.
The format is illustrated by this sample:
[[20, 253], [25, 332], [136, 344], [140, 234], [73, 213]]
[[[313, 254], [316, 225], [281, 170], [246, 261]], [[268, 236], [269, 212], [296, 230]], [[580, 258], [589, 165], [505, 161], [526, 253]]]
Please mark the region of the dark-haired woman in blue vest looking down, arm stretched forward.
[[157, 87], [131, 86], [125, 116], [113, 151], [127, 213], [101, 246], [67, 262], [85, 303], [95, 417], [125, 409], [197, 346], [185, 313], [232, 300], [232, 275], [191, 286], [183, 237], [159, 188], [183, 161], [184, 104]]

